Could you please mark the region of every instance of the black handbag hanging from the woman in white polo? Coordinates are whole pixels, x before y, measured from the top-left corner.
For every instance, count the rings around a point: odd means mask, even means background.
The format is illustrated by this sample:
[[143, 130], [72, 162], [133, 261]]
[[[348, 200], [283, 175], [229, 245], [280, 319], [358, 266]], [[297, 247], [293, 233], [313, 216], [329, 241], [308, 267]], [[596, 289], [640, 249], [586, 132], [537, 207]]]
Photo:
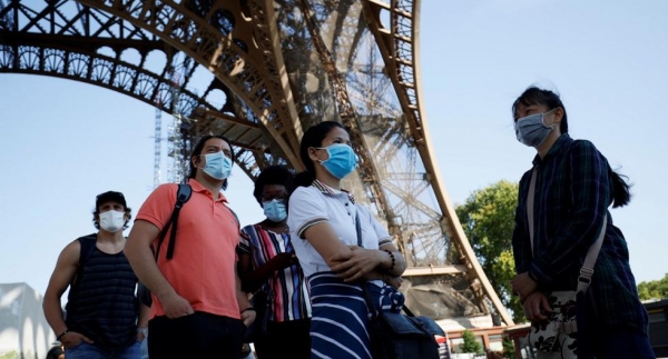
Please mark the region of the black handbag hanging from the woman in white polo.
[[[362, 225], [356, 215], [357, 246], [362, 247]], [[362, 283], [364, 301], [372, 313], [369, 323], [371, 353], [374, 359], [439, 359], [439, 343], [435, 336], [445, 332], [429, 317], [415, 317], [406, 306], [405, 316], [401, 312], [379, 310], [374, 305], [370, 283]]]

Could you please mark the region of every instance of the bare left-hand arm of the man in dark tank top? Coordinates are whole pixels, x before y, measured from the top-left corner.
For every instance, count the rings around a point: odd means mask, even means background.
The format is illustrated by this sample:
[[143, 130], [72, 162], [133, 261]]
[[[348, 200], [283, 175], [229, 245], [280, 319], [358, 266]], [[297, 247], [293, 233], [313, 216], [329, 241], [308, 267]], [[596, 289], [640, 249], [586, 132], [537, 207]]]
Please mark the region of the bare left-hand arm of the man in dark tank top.
[[65, 249], [60, 252], [60, 256], [58, 256], [58, 261], [56, 262], [56, 268], [53, 269], [53, 273], [49, 279], [49, 286], [47, 287], [42, 303], [47, 322], [49, 322], [49, 326], [51, 326], [51, 329], [53, 329], [53, 332], [58, 339], [66, 347], [70, 347], [71, 345], [78, 343], [81, 340], [92, 342], [81, 333], [68, 331], [67, 325], [65, 323], [65, 318], [62, 317], [62, 307], [60, 302], [62, 293], [77, 276], [80, 250], [81, 245], [78, 240], [75, 240], [73, 242], [67, 245], [67, 247], [65, 247]]

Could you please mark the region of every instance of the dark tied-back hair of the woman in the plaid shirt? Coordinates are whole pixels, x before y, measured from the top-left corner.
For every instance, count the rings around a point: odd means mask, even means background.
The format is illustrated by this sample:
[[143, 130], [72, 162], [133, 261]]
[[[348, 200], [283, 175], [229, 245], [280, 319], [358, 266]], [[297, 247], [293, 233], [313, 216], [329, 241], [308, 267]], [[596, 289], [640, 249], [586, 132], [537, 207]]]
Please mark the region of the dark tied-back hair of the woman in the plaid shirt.
[[[561, 130], [561, 133], [568, 133], [568, 116], [566, 114], [566, 107], [563, 106], [563, 102], [561, 102], [561, 98], [558, 93], [531, 86], [512, 103], [513, 116], [520, 103], [523, 106], [542, 104], [550, 111], [560, 107], [563, 110], [563, 118], [561, 119], [559, 129]], [[625, 180], [628, 179], [628, 177], [619, 174], [610, 167], [608, 167], [608, 174], [612, 182], [612, 197], [615, 199], [612, 208], [628, 205], [631, 201], [630, 185]]]

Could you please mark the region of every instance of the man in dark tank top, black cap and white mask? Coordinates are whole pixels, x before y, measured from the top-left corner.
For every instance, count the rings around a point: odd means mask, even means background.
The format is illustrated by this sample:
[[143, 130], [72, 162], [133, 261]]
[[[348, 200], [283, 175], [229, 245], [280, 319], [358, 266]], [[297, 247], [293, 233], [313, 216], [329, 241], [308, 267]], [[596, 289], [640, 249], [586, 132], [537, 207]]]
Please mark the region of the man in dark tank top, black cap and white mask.
[[[124, 229], [131, 218], [125, 197], [97, 196], [97, 233], [76, 239], [60, 252], [45, 295], [47, 321], [68, 359], [138, 358], [148, 311], [139, 313], [137, 277], [124, 255]], [[60, 298], [69, 287], [66, 313]]]

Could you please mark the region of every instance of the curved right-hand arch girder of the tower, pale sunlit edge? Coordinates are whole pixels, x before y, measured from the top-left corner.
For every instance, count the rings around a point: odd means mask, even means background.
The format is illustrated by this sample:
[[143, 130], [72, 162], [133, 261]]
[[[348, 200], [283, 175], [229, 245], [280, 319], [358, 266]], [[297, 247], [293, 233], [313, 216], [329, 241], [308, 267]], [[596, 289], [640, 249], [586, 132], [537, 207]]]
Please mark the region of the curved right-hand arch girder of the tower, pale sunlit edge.
[[[435, 161], [420, 83], [420, 0], [392, 0], [391, 3], [367, 0], [363, 3], [370, 29], [386, 66], [385, 71], [392, 79], [402, 109], [409, 118], [412, 138], [429, 173], [426, 180], [431, 183], [439, 207], [443, 211], [440, 218], [442, 230], [454, 242], [464, 263], [469, 267], [470, 270], [465, 275], [477, 297], [489, 298], [502, 320], [507, 325], [512, 325], [512, 318], [501, 303], [464, 235]], [[390, 28], [382, 24], [382, 11], [389, 12]]]

